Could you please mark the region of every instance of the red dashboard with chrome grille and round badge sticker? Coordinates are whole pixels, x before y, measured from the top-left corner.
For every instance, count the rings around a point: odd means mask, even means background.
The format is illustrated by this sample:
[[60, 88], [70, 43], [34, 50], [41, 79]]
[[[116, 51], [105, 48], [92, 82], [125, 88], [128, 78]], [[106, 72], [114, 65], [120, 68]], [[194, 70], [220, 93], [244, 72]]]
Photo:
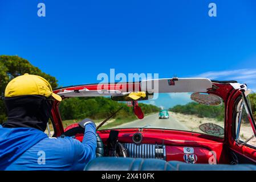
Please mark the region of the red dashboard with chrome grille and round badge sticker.
[[[129, 156], [133, 158], [160, 158], [187, 163], [225, 164], [229, 162], [229, 159], [224, 157], [227, 155], [222, 138], [164, 129], [115, 130], [119, 131], [119, 142], [128, 148]], [[110, 131], [97, 131], [104, 144], [107, 143]], [[138, 133], [142, 138], [140, 143], [135, 143], [133, 136]], [[76, 139], [82, 141], [83, 135], [76, 135]]]

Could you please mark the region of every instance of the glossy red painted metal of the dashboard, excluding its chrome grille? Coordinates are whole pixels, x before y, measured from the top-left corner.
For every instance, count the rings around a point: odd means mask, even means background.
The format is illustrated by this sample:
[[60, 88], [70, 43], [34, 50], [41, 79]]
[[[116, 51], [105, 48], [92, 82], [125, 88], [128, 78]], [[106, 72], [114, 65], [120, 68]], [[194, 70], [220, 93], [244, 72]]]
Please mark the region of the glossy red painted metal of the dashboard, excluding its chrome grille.
[[[76, 123], [68, 126], [66, 130], [72, 127], [78, 126]], [[120, 129], [119, 142], [121, 143], [133, 143], [132, 136], [137, 133], [138, 129]], [[110, 130], [97, 131], [99, 133], [103, 143], [106, 144], [109, 137]], [[209, 158], [212, 156], [212, 152], [216, 152], [217, 163], [227, 163], [227, 160], [222, 159], [223, 156], [223, 143], [222, 139], [216, 137], [210, 137], [203, 134], [193, 134], [185, 131], [174, 130], [159, 130], [159, 129], [143, 129], [139, 131], [143, 135], [143, 141], [141, 143], [149, 144], [165, 144], [166, 146], [166, 160], [179, 160], [184, 162], [184, 147], [193, 147], [194, 153], [197, 155], [196, 163], [208, 163]], [[76, 139], [82, 142], [83, 134], [77, 134]]]

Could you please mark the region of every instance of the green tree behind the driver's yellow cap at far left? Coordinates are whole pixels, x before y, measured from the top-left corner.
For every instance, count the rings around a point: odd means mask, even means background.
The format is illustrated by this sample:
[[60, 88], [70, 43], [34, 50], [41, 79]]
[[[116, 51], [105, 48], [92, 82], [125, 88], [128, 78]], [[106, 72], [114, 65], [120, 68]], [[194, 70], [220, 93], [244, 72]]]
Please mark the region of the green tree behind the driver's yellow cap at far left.
[[34, 67], [28, 60], [19, 56], [0, 55], [0, 123], [6, 119], [6, 108], [3, 103], [6, 85], [13, 78], [25, 73], [42, 76], [50, 82], [52, 89], [58, 86], [58, 81], [55, 77], [40, 71], [39, 68]]

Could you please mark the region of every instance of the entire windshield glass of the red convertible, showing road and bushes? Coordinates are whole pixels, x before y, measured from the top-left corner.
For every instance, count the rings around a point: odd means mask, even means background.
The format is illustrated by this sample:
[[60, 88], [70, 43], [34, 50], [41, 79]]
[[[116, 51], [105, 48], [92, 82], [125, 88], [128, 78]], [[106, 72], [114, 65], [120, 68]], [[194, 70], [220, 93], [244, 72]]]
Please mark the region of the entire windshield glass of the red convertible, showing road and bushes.
[[[120, 107], [99, 130], [121, 128], [151, 128], [193, 131], [224, 137], [224, 104], [209, 106], [192, 100], [193, 93], [160, 93], [156, 100], [139, 101], [143, 119], [136, 118], [127, 102], [108, 97], [76, 97], [60, 104], [64, 127], [83, 118], [94, 119], [99, 125]], [[194, 94], [193, 94], [194, 95]]]

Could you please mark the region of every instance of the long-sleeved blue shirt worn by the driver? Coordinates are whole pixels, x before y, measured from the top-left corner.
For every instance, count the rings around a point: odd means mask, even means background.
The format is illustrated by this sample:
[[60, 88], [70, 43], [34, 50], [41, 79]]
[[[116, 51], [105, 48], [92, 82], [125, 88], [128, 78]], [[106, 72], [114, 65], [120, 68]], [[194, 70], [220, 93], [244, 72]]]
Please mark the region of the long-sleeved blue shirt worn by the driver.
[[[7, 132], [8, 130], [15, 129], [0, 127], [0, 156], [2, 155], [1, 148], [4, 147], [4, 144], [1, 144], [1, 142], [6, 142], [8, 140], [8, 138], [3, 140], [3, 136], [10, 137], [10, 134], [1, 135], [1, 132]], [[36, 130], [35, 132], [42, 131]], [[17, 153], [17, 151], [13, 154], [10, 152], [11, 155], [17, 155]], [[71, 137], [45, 137], [22, 154], [19, 154], [17, 159], [7, 166], [5, 170], [83, 170], [86, 164], [95, 157], [96, 130], [92, 123], [88, 123], [86, 125], [82, 143]], [[8, 158], [11, 158], [11, 156], [5, 156], [5, 160]]]

